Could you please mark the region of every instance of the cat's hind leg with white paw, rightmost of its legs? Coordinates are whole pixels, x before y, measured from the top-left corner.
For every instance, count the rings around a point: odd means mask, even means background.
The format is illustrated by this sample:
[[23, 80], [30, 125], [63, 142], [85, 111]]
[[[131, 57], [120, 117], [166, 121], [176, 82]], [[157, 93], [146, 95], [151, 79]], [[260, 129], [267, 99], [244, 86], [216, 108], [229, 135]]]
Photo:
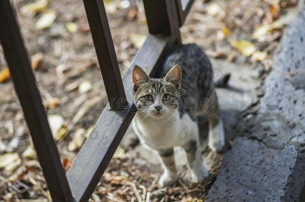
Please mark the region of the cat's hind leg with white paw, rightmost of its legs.
[[206, 112], [208, 119], [208, 146], [212, 151], [220, 152], [224, 147], [224, 130], [214, 89], [211, 92]]

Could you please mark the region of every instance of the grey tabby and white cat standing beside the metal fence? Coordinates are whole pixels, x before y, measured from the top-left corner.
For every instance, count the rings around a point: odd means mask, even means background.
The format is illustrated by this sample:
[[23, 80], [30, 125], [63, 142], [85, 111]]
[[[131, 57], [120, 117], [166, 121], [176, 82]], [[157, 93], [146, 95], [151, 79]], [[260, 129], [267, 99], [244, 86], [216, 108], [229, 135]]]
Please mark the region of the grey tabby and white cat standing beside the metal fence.
[[211, 63], [195, 44], [178, 45], [166, 57], [160, 78], [149, 78], [135, 66], [132, 71], [133, 103], [137, 112], [132, 126], [139, 140], [157, 151], [163, 174], [160, 186], [176, 182], [173, 147], [182, 147], [191, 170], [191, 182], [208, 177], [201, 152], [197, 116], [208, 119], [208, 146], [224, 147], [224, 130], [213, 84]]

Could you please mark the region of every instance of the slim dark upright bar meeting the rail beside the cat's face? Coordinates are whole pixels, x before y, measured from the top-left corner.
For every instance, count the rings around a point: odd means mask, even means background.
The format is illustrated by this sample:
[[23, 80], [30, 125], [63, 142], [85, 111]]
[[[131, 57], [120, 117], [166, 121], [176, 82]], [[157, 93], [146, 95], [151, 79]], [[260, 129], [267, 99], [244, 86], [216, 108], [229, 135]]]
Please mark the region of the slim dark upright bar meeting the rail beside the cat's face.
[[127, 103], [112, 42], [105, 7], [102, 0], [83, 0], [91, 35], [111, 109]]

